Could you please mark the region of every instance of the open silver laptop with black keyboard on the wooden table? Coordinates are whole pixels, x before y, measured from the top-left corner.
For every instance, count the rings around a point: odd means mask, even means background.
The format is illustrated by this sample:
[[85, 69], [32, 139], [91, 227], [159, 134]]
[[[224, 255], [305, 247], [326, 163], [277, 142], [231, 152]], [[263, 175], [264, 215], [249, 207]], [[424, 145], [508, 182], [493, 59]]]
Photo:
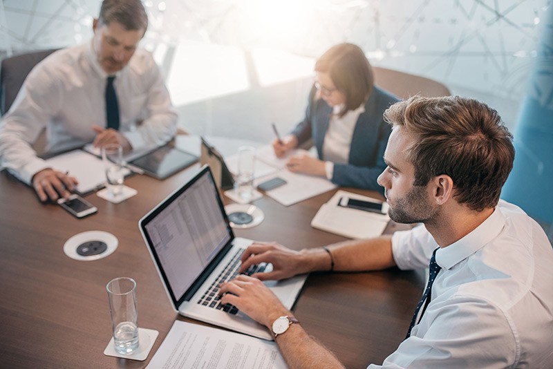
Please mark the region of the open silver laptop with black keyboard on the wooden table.
[[[140, 219], [139, 227], [176, 312], [272, 340], [265, 326], [218, 300], [218, 285], [234, 278], [252, 240], [234, 236], [209, 165]], [[272, 270], [271, 264], [255, 267]], [[303, 275], [264, 283], [291, 309], [305, 281]]]

